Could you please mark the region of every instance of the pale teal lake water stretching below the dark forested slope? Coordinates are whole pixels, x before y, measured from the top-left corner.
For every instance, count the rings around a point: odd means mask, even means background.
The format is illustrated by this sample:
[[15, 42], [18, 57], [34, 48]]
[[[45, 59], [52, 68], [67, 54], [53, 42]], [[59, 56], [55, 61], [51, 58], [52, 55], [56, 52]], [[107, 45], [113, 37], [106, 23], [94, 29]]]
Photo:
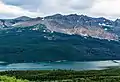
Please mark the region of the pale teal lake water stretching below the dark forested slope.
[[[3, 62], [4, 63], [4, 62]], [[4, 70], [52, 70], [52, 69], [72, 69], [72, 70], [102, 70], [110, 66], [120, 66], [120, 61], [89, 61], [89, 62], [40, 62], [40, 63], [15, 63], [2, 65], [0, 71]]]

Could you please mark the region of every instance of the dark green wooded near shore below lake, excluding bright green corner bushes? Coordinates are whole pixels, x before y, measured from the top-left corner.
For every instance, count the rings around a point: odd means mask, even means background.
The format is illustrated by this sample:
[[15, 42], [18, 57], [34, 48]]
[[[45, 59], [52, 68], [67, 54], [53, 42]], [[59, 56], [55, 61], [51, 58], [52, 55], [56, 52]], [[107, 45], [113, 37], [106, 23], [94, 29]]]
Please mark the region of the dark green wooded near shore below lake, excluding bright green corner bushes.
[[3, 71], [0, 72], [0, 76], [15, 77], [16, 79], [29, 80], [29, 82], [120, 82], [120, 68], [89, 71]]

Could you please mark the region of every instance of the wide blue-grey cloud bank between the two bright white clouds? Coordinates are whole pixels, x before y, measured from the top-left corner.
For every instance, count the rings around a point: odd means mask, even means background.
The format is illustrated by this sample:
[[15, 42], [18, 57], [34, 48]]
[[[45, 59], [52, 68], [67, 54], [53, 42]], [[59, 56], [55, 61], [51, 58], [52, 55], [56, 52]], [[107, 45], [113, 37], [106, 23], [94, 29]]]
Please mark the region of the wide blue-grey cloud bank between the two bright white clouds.
[[2, 0], [4, 5], [15, 6], [30, 12], [40, 13], [39, 16], [46, 16], [56, 13], [61, 14], [85, 14], [92, 6], [94, 0]]

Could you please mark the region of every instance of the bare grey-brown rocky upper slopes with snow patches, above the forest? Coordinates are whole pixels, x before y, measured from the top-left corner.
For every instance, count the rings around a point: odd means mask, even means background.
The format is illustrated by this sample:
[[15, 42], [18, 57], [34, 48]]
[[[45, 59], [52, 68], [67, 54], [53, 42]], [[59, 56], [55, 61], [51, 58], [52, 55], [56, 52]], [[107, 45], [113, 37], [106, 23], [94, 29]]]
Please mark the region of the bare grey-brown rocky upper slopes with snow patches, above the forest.
[[92, 18], [86, 15], [56, 14], [44, 18], [22, 16], [16, 19], [0, 20], [1, 28], [28, 27], [37, 24], [45, 25], [50, 31], [100, 39], [118, 40], [120, 35], [120, 19], [111, 21], [103, 17]]

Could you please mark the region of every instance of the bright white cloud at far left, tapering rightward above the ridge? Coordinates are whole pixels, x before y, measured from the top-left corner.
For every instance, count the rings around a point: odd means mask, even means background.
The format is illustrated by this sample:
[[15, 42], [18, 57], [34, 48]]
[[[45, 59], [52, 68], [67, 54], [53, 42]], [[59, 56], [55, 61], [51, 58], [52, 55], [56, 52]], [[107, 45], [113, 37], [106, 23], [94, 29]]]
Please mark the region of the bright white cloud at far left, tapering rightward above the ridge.
[[18, 6], [6, 5], [0, 1], [0, 14], [11, 15], [11, 16], [38, 16], [37, 12], [29, 12]]

